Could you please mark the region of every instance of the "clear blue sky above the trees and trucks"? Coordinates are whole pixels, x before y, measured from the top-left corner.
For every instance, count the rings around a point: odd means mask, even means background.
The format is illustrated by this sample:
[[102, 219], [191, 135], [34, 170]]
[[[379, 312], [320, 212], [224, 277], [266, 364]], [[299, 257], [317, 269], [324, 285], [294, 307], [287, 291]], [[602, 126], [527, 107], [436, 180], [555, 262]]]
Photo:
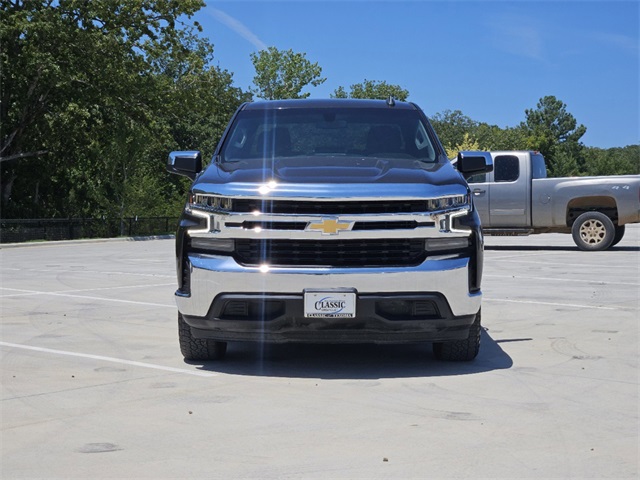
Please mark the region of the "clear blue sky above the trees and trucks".
[[505, 128], [553, 95], [585, 145], [640, 143], [640, 0], [209, 0], [193, 20], [243, 90], [250, 54], [274, 46], [322, 67], [311, 98], [386, 81], [427, 116]]

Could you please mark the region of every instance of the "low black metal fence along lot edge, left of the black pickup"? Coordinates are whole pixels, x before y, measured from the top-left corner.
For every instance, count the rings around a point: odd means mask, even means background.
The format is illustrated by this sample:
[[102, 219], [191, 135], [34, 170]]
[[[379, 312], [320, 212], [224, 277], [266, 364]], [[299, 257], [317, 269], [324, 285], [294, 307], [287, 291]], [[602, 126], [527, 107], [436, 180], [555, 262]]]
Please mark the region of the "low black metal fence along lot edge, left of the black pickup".
[[178, 217], [0, 219], [0, 243], [166, 235]]

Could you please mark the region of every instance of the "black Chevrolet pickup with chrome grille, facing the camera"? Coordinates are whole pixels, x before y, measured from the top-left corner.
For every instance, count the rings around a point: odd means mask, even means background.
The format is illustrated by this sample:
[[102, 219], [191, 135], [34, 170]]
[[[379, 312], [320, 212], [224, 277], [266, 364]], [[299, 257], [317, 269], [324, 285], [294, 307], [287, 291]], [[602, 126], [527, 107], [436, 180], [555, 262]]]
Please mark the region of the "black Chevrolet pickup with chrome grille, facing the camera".
[[431, 342], [437, 358], [480, 347], [483, 239], [463, 176], [412, 103], [243, 104], [194, 179], [176, 234], [185, 359], [229, 341]]

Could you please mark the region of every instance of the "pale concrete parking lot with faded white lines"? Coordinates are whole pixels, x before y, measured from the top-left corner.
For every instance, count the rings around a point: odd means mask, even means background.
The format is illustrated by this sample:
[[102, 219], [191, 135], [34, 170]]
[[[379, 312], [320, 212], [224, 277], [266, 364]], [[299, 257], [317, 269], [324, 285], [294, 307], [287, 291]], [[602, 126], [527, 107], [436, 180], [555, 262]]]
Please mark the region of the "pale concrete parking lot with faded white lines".
[[637, 478], [640, 225], [488, 237], [480, 355], [231, 344], [185, 363], [173, 241], [2, 246], [18, 478]]

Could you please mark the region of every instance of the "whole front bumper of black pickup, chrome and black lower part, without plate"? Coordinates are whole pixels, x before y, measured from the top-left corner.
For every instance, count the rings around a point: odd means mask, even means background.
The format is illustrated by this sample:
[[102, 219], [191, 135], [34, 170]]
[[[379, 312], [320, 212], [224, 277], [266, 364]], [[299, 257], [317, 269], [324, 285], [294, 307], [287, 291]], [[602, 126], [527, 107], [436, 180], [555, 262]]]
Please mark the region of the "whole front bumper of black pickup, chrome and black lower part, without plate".
[[[270, 268], [231, 257], [189, 254], [190, 293], [176, 292], [178, 310], [198, 338], [221, 341], [396, 343], [466, 338], [482, 294], [470, 293], [470, 258], [427, 258], [415, 267]], [[305, 289], [355, 290], [353, 319], [305, 318]], [[249, 316], [225, 313], [230, 301]], [[381, 311], [388, 302], [429, 304], [418, 315]], [[386, 303], [385, 303], [386, 302]], [[253, 305], [253, 307], [251, 307]], [[383, 309], [384, 310], [384, 309]]]

